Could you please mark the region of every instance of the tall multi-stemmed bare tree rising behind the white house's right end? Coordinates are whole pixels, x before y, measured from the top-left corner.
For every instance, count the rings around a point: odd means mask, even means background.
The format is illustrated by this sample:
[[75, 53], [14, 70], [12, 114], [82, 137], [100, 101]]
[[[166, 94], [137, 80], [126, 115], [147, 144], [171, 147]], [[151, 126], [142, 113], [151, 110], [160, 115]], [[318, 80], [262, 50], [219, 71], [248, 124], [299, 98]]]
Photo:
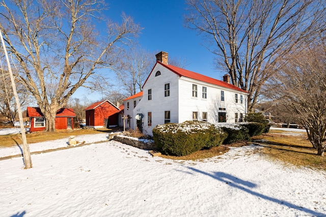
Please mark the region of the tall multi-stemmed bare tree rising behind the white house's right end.
[[204, 35], [216, 54], [216, 68], [222, 66], [234, 85], [249, 91], [249, 110], [255, 108], [278, 59], [325, 29], [324, 0], [187, 2], [188, 26]]

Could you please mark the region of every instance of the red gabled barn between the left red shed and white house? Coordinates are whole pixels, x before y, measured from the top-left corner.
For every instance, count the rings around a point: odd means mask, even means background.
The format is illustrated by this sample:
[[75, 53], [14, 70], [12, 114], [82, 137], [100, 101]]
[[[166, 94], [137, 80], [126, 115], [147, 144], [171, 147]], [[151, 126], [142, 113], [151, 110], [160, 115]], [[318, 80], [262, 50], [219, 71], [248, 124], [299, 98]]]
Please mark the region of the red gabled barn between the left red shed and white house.
[[109, 128], [118, 126], [120, 109], [108, 100], [93, 103], [84, 111], [86, 111], [86, 127]]

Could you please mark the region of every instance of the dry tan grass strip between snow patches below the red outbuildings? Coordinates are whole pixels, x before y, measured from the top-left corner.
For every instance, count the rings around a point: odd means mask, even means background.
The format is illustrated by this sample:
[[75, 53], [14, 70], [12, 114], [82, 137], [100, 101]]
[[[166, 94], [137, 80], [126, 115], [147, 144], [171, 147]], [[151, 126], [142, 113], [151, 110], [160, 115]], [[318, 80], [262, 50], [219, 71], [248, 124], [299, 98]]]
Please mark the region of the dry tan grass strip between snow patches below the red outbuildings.
[[[108, 129], [105, 129], [105, 132], [107, 130]], [[103, 131], [94, 130], [94, 129], [80, 129], [80, 130], [73, 130], [73, 131], [57, 130], [57, 132], [55, 133], [40, 131], [31, 134], [26, 134], [26, 140], [28, 144], [56, 140], [56, 139], [63, 139], [63, 138], [67, 138], [68, 141], [69, 136], [98, 134], [98, 133], [103, 133]], [[20, 138], [21, 135], [18, 134], [0, 136], [0, 147], [11, 147], [15, 145], [20, 145], [22, 144], [22, 140]]]

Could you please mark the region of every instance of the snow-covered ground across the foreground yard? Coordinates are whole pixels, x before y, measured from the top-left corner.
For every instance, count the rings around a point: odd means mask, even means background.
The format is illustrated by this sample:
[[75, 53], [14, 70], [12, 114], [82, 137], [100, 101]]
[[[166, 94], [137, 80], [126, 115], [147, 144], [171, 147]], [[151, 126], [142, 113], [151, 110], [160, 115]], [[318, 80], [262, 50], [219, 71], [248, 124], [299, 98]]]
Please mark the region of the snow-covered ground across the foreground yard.
[[27, 170], [21, 157], [0, 161], [0, 216], [326, 216], [326, 172], [271, 162], [258, 146], [176, 161], [106, 137], [33, 154]]

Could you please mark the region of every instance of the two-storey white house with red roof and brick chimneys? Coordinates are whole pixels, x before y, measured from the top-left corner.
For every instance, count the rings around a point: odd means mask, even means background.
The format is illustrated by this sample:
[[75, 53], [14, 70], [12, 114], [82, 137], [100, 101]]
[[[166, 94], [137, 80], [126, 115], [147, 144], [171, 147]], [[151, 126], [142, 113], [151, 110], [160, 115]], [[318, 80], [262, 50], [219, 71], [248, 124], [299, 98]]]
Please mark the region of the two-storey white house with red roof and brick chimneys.
[[224, 81], [168, 65], [168, 53], [156, 54], [156, 64], [143, 91], [124, 100], [126, 128], [152, 135], [155, 126], [168, 122], [201, 120], [241, 122], [247, 114], [248, 92]]

